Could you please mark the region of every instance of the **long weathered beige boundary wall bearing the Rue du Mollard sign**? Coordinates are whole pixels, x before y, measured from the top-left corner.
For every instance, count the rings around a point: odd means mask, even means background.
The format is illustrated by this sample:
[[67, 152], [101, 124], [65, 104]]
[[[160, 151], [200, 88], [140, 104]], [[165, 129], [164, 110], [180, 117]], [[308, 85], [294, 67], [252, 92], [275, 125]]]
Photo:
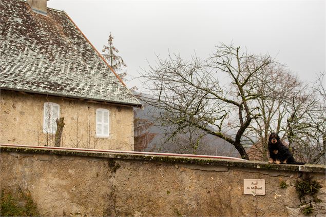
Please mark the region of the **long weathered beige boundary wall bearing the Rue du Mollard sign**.
[[[311, 216], [324, 216], [325, 166], [1, 148], [1, 188], [30, 192], [44, 216], [302, 216], [307, 175], [322, 186]], [[265, 180], [265, 195], [243, 194], [243, 179]]]

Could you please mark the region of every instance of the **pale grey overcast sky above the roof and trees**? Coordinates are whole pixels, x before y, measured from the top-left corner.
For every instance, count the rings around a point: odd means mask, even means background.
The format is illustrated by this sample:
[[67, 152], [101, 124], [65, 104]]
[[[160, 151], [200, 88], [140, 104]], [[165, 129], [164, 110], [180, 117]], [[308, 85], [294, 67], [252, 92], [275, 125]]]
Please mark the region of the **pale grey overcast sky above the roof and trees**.
[[301, 80], [325, 70], [325, 1], [50, 0], [48, 7], [64, 10], [100, 52], [111, 32], [133, 77], [155, 54], [207, 57], [220, 42], [269, 53]]

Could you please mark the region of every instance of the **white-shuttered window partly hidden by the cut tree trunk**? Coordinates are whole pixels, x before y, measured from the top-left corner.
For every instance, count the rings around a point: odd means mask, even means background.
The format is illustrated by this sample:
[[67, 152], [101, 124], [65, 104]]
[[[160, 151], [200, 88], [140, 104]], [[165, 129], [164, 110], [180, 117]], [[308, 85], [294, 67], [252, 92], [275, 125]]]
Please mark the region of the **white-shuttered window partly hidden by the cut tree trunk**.
[[56, 132], [56, 119], [59, 119], [60, 106], [56, 103], [44, 103], [43, 132]]

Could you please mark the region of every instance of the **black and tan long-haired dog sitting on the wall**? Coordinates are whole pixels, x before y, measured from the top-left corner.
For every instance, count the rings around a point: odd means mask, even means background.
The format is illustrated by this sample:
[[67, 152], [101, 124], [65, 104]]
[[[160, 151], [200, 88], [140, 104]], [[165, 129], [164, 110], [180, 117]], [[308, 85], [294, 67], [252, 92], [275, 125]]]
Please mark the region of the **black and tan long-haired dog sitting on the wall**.
[[298, 164], [303, 165], [302, 162], [297, 162], [289, 148], [287, 148], [280, 140], [280, 137], [276, 133], [271, 133], [269, 137], [269, 152], [270, 160], [269, 163], [273, 164]]

